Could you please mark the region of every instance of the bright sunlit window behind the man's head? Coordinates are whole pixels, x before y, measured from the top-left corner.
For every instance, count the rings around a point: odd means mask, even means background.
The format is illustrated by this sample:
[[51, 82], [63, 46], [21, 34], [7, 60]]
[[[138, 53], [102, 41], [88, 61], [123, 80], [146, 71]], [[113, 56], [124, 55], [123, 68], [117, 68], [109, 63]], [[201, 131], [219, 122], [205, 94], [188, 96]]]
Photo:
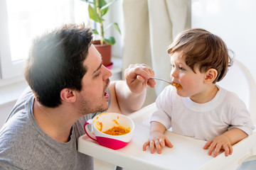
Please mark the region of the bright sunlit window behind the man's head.
[[63, 23], [87, 21], [86, 9], [80, 0], [1, 0], [0, 86], [1, 81], [22, 77], [23, 62], [36, 35]]

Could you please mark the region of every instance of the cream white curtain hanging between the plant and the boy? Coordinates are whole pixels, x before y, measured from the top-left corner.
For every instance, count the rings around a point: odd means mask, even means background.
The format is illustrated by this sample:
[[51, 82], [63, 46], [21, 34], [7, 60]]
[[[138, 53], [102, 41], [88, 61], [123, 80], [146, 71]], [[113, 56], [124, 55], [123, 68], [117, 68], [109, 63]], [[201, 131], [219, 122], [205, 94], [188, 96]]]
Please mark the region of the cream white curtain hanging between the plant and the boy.
[[[154, 69], [155, 77], [170, 80], [170, 58], [166, 52], [171, 40], [191, 28], [190, 0], [123, 0], [123, 68], [144, 63]], [[144, 106], [155, 101], [167, 86], [156, 81], [147, 91]]]

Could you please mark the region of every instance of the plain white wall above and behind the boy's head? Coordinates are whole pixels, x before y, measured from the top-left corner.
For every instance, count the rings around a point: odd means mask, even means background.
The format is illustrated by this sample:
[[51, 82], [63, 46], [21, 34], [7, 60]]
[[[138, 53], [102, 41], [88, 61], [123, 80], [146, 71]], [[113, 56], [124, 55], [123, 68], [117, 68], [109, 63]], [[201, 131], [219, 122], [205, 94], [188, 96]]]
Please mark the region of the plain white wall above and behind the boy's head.
[[220, 36], [256, 80], [256, 1], [191, 0], [191, 8], [191, 27]]

